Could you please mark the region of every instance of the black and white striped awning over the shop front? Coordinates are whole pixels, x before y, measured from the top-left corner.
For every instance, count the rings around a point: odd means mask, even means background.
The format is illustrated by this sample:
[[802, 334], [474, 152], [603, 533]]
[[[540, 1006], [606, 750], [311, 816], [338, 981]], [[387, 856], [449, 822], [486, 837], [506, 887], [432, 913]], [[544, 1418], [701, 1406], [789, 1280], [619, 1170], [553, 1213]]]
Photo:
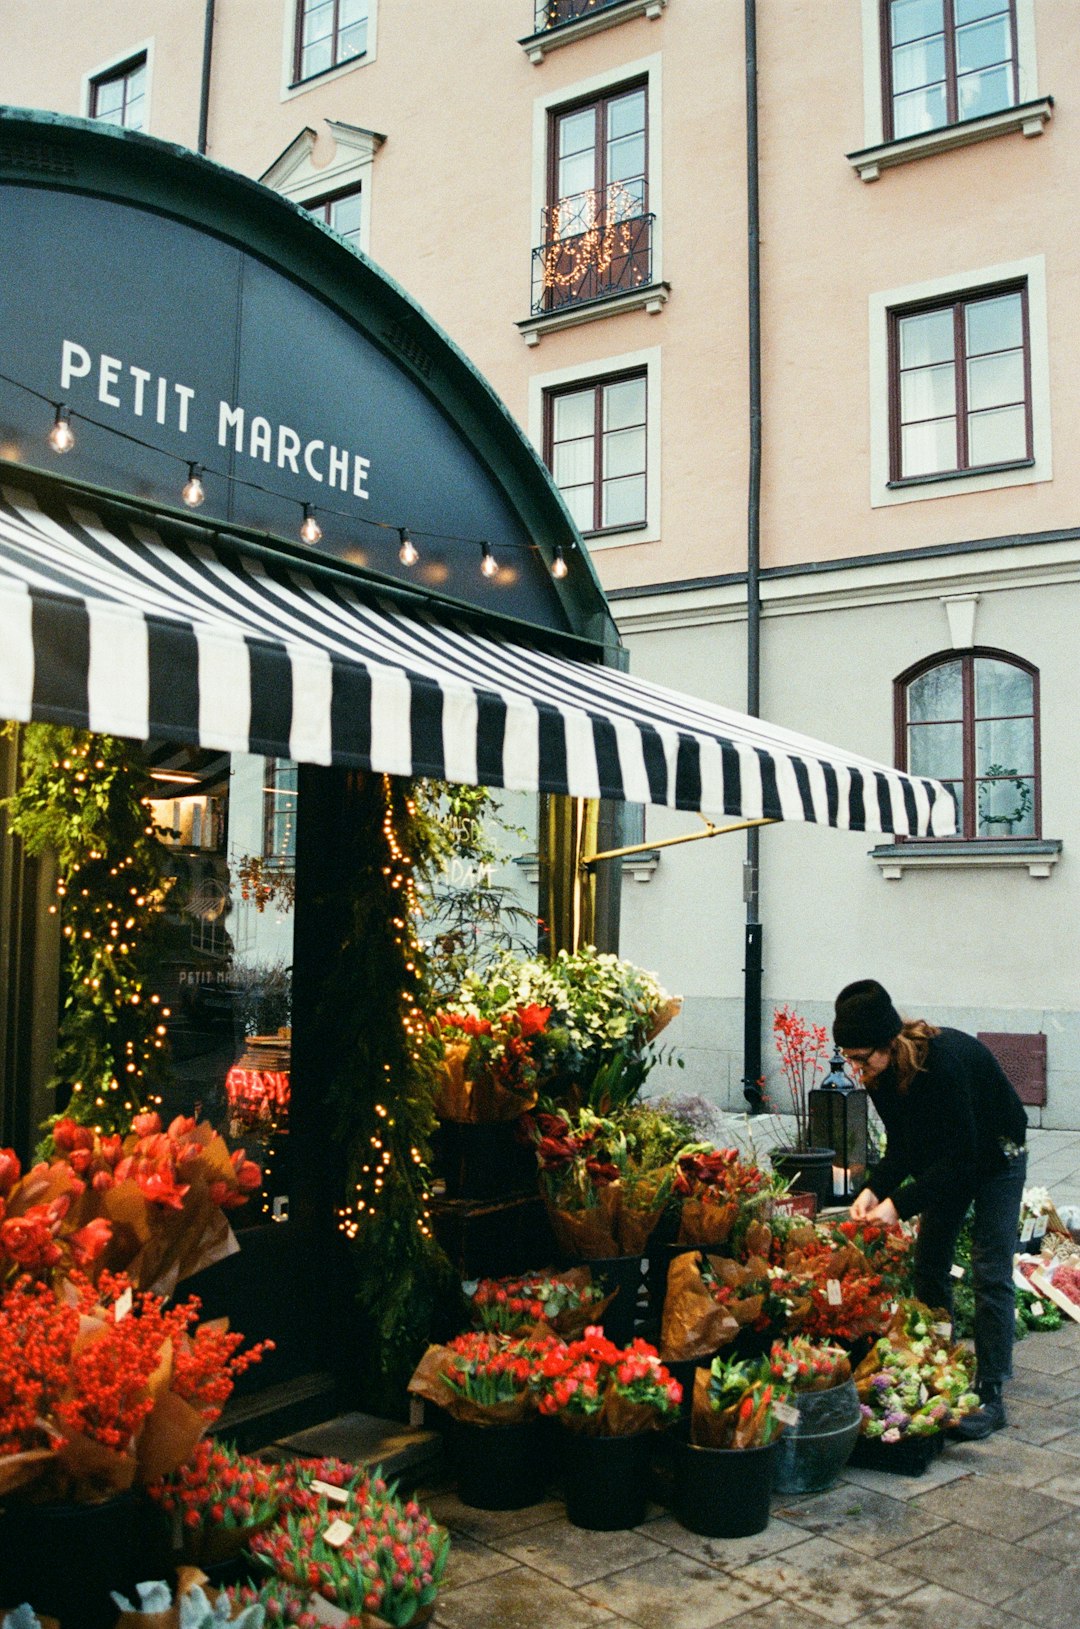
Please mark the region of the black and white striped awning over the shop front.
[[[174, 531], [176, 534], [171, 534]], [[951, 795], [163, 521], [0, 489], [0, 717], [736, 819], [948, 836]]]

